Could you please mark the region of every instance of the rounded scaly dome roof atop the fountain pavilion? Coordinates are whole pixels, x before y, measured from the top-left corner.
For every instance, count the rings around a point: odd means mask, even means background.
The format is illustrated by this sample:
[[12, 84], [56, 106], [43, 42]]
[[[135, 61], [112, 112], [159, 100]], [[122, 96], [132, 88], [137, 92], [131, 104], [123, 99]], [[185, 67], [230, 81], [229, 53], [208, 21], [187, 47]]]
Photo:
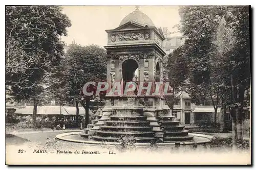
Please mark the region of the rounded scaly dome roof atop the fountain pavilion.
[[130, 13], [129, 15], [125, 16], [122, 21], [120, 22], [119, 26], [124, 25], [127, 22], [134, 21], [137, 23], [140, 23], [142, 26], [148, 26], [148, 27], [154, 27], [154, 23], [148, 17], [146, 14], [141, 12], [138, 7], [136, 7], [136, 10]]

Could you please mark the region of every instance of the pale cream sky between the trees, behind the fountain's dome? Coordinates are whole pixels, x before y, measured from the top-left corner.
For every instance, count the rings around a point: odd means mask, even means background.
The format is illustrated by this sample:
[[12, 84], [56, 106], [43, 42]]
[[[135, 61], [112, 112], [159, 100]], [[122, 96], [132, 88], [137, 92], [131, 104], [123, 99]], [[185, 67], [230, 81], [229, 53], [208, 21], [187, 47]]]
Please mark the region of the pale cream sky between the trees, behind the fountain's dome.
[[[135, 6], [62, 6], [71, 20], [68, 36], [61, 37], [67, 45], [75, 39], [77, 44], [98, 44], [103, 47], [107, 43], [105, 30], [115, 29], [121, 20], [136, 8]], [[169, 31], [180, 22], [178, 6], [140, 6], [139, 10], [151, 18], [157, 28], [167, 27]]]

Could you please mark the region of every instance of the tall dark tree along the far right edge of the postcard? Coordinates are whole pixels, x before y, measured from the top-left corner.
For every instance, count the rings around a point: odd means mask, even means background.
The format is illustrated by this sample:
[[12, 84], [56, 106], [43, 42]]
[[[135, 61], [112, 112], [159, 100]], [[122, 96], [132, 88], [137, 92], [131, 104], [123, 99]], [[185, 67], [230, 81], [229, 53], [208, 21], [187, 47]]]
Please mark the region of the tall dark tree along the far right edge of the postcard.
[[238, 121], [238, 138], [242, 139], [242, 121], [244, 117], [245, 93], [250, 88], [250, 32], [249, 7], [233, 6], [224, 16], [226, 27], [232, 31], [234, 41], [231, 50], [225, 54], [229, 59], [230, 104], [233, 127]]

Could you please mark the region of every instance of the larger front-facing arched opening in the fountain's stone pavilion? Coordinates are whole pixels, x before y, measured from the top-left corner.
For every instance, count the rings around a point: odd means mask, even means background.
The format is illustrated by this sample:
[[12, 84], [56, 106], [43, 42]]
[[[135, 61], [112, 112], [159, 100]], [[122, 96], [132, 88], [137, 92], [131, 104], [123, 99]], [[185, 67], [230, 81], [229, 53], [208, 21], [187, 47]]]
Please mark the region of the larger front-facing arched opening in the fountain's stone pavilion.
[[122, 76], [123, 76], [123, 89], [125, 88], [126, 82], [138, 81], [138, 63], [133, 59], [125, 60], [122, 63]]

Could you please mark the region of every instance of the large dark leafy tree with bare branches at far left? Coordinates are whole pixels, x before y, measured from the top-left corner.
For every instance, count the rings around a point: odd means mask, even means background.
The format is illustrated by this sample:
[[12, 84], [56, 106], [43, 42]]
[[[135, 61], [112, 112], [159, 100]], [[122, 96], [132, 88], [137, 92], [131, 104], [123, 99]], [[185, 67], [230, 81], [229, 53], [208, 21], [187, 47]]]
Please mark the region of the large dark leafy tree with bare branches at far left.
[[59, 64], [64, 46], [60, 36], [66, 36], [70, 26], [61, 7], [6, 7], [6, 84], [16, 100], [34, 101], [33, 123], [45, 90], [42, 82]]

